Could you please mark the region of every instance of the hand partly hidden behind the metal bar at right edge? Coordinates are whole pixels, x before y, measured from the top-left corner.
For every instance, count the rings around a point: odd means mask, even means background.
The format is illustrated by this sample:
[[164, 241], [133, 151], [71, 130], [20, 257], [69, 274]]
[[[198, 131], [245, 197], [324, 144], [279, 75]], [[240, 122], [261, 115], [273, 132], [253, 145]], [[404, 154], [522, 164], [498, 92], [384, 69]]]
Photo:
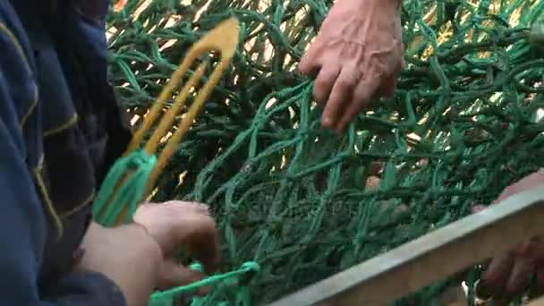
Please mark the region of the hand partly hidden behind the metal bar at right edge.
[[[521, 181], [508, 186], [494, 202], [504, 200], [517, 192], [533, 187], [544, 188], [544, 172], [530, 174]], [[478, 212], [484, 207], [473, 208]], [[527, 237], [527, 242], [520, 243], [516, 249], [492, 259], [482, 280], [486, 289], [497, 295], [511, 295], [525, 289], [531, 281], [533, 272], [537, 272], [539, 287], [544, 285], [544, 240], [543, 237]]]

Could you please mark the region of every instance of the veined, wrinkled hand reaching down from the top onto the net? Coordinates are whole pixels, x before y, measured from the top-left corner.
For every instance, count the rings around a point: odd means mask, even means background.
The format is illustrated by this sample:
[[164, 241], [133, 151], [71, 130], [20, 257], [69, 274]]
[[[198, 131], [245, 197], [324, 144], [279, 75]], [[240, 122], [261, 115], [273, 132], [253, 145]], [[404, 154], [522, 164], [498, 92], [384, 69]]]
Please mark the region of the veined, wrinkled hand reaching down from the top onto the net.
[[336, 132], [370, 105], [389, 97], [404, 66], [400, 0], [341, 0], [330, 10], [299, 70], [317, 74], [314, 98], [321, 124]]

